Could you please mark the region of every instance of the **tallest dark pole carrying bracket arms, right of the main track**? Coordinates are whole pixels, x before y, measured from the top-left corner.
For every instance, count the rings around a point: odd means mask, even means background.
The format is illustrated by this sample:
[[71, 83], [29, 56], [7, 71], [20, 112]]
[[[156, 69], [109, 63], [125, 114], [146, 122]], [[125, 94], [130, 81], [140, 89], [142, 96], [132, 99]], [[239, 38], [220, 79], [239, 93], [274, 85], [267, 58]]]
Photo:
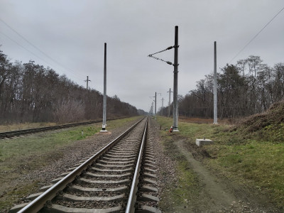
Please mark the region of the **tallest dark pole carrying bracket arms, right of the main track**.
[[178, 130], [178, 26], [175, 26], [175, 60], [173, 70], [173, 131]]

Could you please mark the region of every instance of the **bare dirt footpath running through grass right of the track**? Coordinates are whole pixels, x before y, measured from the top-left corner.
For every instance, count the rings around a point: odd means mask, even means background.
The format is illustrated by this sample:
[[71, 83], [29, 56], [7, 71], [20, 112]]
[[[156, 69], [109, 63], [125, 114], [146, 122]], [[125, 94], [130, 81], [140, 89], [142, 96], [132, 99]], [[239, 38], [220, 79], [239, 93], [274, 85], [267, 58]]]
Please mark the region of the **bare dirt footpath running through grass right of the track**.
[[[190, 168], [198, 177], [201, 190], [185, 212], [278, 212], [269, 204], [266, 197], [257, 192], [241, 188], [226, 178], [219, 178], [195, 159], [185, 140], [176, 141], [178, 151], [190, 163]], [[195, 151], [193, 151], [195, 152]], [[180, 211], [180, 210], [179, 210]], [[183, 212], [183, 211], [182, 211]]]

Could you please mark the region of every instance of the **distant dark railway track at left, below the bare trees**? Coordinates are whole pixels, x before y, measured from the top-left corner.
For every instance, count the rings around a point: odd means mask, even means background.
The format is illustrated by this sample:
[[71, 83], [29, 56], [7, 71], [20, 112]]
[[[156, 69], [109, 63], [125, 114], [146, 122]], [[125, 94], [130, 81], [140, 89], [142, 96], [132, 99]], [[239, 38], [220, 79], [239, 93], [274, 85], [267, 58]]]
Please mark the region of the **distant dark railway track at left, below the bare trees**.
[[[122, 119], [122, 118], [119, 118], [119, 119]], [[109, 121], [111, 121], [111, 120], [115, 120], [115, 119], [109, 119]], [[86, 122], [80, 122], [80, 123], [74, 123], [74, 124], [64, 124], [64, 125], [58, 125], [58, 126], [45, 126], [45, 127], [35, 128], [35, 129], [23, 129], [23, 130], [18, 130], [18, 131], [0, 132], [0, 139], [12, 138], [12, 137], [15, 137], [15, 136], [23, 136], [23, 135], [30, 134], [30, 133], [38, 133], [40, 131], [50, 131], [50, 130], [56, 130], [56, 129], [70, 128], [70, 127], [73, 127], [73, 126], [95, 124], [95, 123], [99, 123], [99, 122], [102, 122], [102, 120], [86, 121]]]

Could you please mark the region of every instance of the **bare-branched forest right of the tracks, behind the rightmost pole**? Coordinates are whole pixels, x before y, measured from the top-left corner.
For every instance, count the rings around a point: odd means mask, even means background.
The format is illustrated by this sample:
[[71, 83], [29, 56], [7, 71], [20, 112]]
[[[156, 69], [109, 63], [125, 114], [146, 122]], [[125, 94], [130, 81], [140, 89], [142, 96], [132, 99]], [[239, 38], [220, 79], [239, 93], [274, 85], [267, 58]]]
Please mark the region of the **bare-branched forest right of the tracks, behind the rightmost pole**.
[[[217, 74], [219, 119], [260, 113], [284, 97], [284, 63], [269, 67], [251, 55], [221, 70]], [[185, 97], [178, 97], [178, 111], [181, 116], [213, 118], [213, 74], [205, 75]], [[163, 114], [168, 114], [168, 107]]]

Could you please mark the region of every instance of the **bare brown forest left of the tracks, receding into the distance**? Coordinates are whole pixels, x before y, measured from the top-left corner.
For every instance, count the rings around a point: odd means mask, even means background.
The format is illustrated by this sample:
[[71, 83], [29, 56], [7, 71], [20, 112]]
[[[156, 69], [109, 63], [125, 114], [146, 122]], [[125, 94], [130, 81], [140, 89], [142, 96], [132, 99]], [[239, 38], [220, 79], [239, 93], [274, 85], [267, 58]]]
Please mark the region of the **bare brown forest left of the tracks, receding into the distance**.
[[[0, 124], [100, 119], [102, 100], [95, 89], [87, 90], [31, 60], [10, 62], [0, 50]], [[119, 97], [107, 97], [107, 118], [137, 114], [136, 107]]]

